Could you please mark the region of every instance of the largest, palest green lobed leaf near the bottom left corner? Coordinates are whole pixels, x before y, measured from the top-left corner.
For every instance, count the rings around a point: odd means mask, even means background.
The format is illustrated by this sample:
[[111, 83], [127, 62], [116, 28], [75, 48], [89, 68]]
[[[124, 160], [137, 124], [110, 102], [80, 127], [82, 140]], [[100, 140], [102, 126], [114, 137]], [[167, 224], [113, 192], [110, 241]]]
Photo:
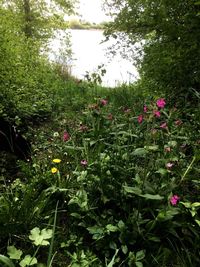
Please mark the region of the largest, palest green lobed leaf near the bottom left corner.
[[33, 241], [36, 246], [47, 246], [49, 245], [49, 241], [53, 235], [52, 229], [42, 229], [40, 230], [38, 227], [35, 227], [31, 230], [31, 234], [29, 235], [29, 239]]

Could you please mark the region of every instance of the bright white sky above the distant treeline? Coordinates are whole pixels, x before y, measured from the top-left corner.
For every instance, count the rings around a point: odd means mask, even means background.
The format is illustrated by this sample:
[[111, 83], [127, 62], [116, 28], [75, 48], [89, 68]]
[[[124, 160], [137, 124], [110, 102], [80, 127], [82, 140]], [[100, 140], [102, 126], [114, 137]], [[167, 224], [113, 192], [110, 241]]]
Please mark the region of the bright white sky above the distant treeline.
[[83, 20], [99, 23], [108, 21], [110, 18], [102, 10], [103, 0], [79, 0], [79, 13]]

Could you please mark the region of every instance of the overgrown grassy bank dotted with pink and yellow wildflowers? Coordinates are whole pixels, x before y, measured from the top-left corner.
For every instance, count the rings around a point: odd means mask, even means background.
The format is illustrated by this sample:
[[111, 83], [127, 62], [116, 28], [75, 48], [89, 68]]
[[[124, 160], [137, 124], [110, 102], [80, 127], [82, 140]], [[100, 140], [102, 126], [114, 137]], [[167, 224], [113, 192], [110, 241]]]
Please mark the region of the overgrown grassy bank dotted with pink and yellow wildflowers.
[[199, 266], [198, 105], [69, 80], [49, 96], [31, 160], [1, 172], [3, 266]]

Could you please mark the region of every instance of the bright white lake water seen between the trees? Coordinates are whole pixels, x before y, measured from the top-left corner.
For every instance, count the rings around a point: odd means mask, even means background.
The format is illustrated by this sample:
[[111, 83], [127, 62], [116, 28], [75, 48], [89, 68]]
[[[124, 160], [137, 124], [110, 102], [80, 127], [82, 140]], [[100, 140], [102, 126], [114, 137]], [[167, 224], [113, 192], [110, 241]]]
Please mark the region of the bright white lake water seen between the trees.
[[[102, 84], [105, 86], [114, 87], [122, 83], [132, 83], [138, 79], [138, 72], [128, 59], [122, 58], [119, 53], [115, 56], [107, 54], [108, 48], [114, 40], [102, 43], [105, 39], [103, 31], [69, 30], [69, 32], [73, 59], [68, 60], [67, 64], [70, 65], [73, 76], [78, 79], [85, 79], [86, 72], [96, 72], [98, 66], [103, 65], [106, 74], [102, 77]], [[59, 50], [62, 46], [64, 47], [60, 37], [63, 37], [63, 32], [60, 32], [51, 42], [50, 59], [55, 60], [55, 57], [57, 57], [64, 63], [60, 55], [62, 49]]]

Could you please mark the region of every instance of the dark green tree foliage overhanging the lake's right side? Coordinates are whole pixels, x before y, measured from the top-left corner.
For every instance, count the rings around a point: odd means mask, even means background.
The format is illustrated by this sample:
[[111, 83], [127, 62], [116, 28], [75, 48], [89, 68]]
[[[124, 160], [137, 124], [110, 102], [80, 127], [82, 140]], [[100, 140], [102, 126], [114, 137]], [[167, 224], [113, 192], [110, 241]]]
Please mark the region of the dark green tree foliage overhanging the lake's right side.
[[[107, 34], [129, 44], [145, 40], [140, 74], [155, 90], [180, 95], [200, 90], [200, 5], [197, 1], [106, 0], [114, 16]], [[141, 60], [141, 57], [140, 57]]]

